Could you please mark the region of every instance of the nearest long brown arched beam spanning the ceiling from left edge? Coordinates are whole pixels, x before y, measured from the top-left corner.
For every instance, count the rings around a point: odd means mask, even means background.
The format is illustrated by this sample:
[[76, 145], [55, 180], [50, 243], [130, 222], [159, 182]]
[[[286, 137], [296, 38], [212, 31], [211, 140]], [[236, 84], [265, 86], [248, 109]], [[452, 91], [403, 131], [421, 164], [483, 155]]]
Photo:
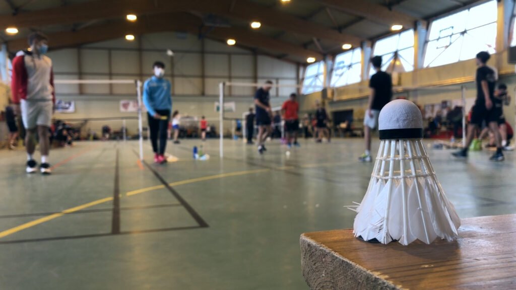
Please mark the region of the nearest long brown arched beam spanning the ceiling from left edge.
[[[10, 0], [7, 0], [10, 1]], [[20, 13], [17, 16], [3, 15], [0, 18], [0, 27], [10, 25], [24, 27], [41, 27], [55, 24], [73, 24], [88, 22], [94, 19], [123, 19], [127, 13], [160, 14], [183, 11], [200, 11], [203, 13], [215, 13], [224, 17], [245, 21], [259, 20], [262, 24], [289, 33], [327, 39], [338, 43], [349, 42], [358, 45], [360, 37], [341, 34], [334, 29], [328, 29], [324, 25], [300, 19], [294, 15], [270, 9], [246, 0], [234, 2], [234, 7], [229, 11], [233, 0], [218, 1], [169, 1], [156, 0], [155, 5], [151, 0], [102, 0], [71, 4], [38, 11]]]

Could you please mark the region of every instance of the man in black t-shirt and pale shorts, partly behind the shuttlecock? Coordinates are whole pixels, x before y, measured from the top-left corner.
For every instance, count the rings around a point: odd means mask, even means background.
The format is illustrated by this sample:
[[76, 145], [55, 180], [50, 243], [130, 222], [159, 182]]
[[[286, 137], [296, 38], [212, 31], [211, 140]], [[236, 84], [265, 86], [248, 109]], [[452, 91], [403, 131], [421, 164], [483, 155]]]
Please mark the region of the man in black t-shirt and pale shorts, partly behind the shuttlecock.
[[371, 93], [364, 116], [365, 153], [359, 157], [360, 162], [371, 162], [371, 131], [377, 130], [380, 110], [392, 99], [392, 78], [381, 70], [382, 57], [373, 57], [371, 63], [376, 73], [369, 80]]

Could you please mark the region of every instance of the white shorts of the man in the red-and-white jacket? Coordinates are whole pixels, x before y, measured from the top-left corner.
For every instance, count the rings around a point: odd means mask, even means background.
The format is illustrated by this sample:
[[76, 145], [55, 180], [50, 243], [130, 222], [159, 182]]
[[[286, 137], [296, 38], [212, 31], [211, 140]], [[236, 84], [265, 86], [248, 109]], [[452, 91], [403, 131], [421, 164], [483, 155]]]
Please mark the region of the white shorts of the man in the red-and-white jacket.
[[26, 129], [34, 129], [36, 126], [52, 126], [52, 114], [54, 104], [52, 101], [26, 101], [21, 100], [23, 126]]

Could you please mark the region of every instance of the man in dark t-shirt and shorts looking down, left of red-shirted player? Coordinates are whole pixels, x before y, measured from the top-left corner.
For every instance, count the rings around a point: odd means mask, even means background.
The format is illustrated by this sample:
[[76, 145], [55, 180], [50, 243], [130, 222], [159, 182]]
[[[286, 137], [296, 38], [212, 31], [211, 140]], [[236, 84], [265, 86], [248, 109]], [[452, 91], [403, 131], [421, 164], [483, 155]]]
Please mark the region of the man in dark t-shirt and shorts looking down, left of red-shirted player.
[[272, 82], [267, 80], [265, 85], [258, 90], [256, 90], [256, 94], [254, 95], [254, 104], [256, 110], [256, 125], [258, 126], [258, 136], [256, 136], [258, 140], [258, 152], [263, 154], [264, 151], [267, 151], [265, 148], [265, 140], [267, 136], [271, 133], [271, 119], [272, 119], [272, 110], [270, 108], [270, 95], [269, 91], [272, 87]]

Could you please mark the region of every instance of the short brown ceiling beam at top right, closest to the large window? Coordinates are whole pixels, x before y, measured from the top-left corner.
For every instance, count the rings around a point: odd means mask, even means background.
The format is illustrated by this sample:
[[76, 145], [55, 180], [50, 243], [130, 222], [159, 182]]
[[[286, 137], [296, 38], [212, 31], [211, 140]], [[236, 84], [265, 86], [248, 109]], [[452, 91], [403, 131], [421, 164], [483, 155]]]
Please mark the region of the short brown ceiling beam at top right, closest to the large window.
[[401, 24], [405, 27], [414, 27], [416, 21], [421, 21], [411, 17], [408, 14], [398, 11], [391, 11], [388, 7], [370, 3], [368, 1], [356, 0], [318, 0], [319, 3], [324, 4], [333, 9], [341, 10], [343, 12], [358, 15], [366, 18], [372, 22], [378, 22], [385, 25]]

